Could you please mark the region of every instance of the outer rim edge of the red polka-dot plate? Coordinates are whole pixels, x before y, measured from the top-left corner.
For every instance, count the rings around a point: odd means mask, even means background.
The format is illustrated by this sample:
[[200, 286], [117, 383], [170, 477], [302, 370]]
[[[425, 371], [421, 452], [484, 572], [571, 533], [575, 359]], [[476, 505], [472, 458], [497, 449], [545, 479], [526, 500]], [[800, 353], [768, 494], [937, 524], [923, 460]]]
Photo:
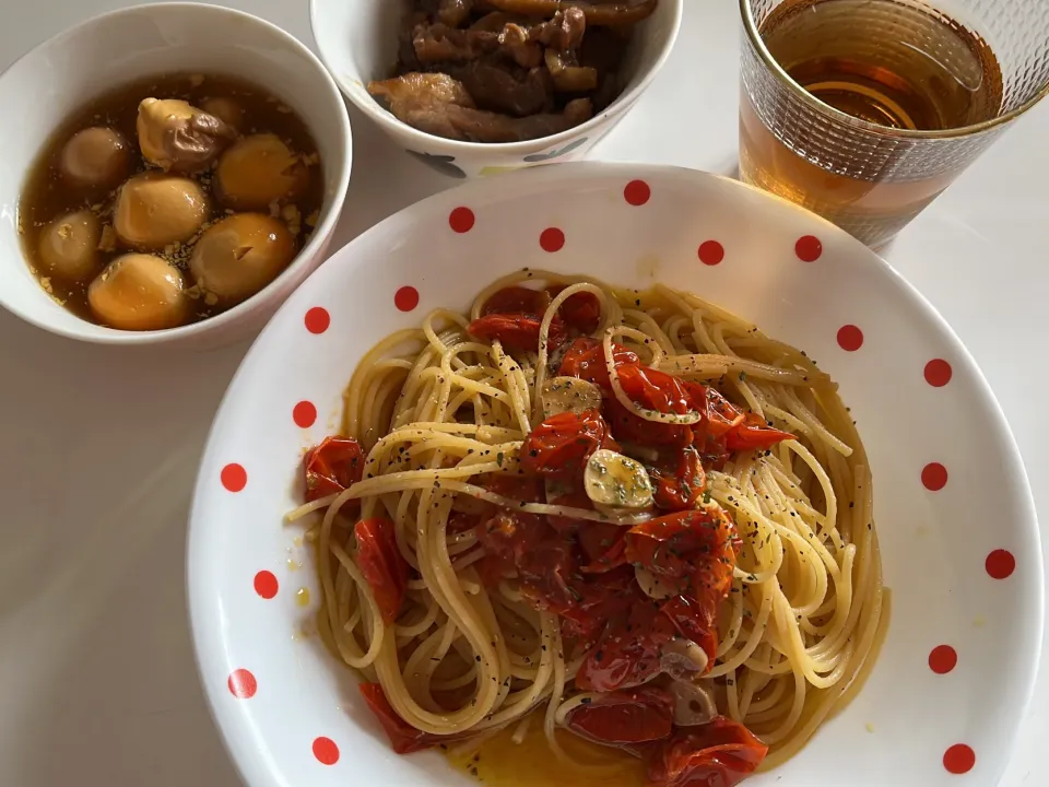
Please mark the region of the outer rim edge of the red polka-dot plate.
[[[810, 222], [814, 227], [822, 227], [821, 232], [825, 234], [846, 236], [850, 238], [851, 242], [854, 242], [858, 252], [864, 258], [862, 265], [879, 271], [877, 275], [884, 277], [888, 283], [900, 293], [901, 298], [909, 301], [915, 308], [921, 309], [926, 318], [940, 332], [943, 340], [952, 348], [953, 353], [955, 353], [954, 357], [956, 357], [959, 363], [964, 363], [967, 366], [967, 369], [973, 373], [973, 391], [979, 397], [983, 406], [988, 408], [988, 414], [994, 421], [994, 432], [999, 435], [1001, 439], [1002, 451], [1011, 465], [1010, 472], [1013, 473], [1013, 489], [1017, 493], [1016, 510], [1022, 513], [1023, 521], [1025, 522], [1025, 527], [1023, 528], [1024, 538], [1029, 540], [1029, 545], [1032, 547], [1033, 552], [1036, 554], [1036, 559], [1032, 561], [1033, 565], [1030, 566], [1034, 572], [1030, 579], [1033, 587], [1037, 589], [1034, 599], [1036, 614], [1034, 615], [1034, 620], [1029, 621], [1029, 636], [1027, 637], [1029, 645], [1023, 649], [1024, 657], [1029, 666], [1030, 680], [1027, 681], [1026, 685], [1024, 686], [1023, 694], [1019, 697], [1019, 705], [1016, 707], [1016, 713], [1012, 717], [1011, 728], [1009, 729], [1009, 736], [1004, 745], [1004, 762], [1010, 762], [1015, 754], [1016, 747], [1018, 745], [1017, 733], [1019, 725], [1024, 719], [1027, 718], [1027, 714], [1034, 701], [1035, 683], [1039, 674], [1039, 668], [1041, 663], [1041, 642], [1046, 625], [1046, 577], [1045, 566], [1040, 559], [1041, 532], [1038, 527], [1038, 514], [1037, 508], [1035, 507], [1030, 480], [1027, 475], [1027, 469], [1024, 465], [1019, 446], [1009, 424], [1009, 421], [1005, 418], [1005, 413], [1002, 410], [1001, 403], [988, 383], [983, 371], [980, 368], [979, 364], [977, 364], [976, 359], [973, 357], [968, 348], [962, 342], [962, 339], [957, 336], [946, 319], [939, 313], [939, 310], [936, 310], [935, 306], [933, 306], [932, 303], [926, 298], [924, 295], [922, 295], [914, 284], [910, 283], [910, 281], [905, 279], [876, 251], [863, 246], [859, 240], [856, 240], [845, 233], [844, 230], [840, 230], [835, 224], [832, 224], [823, 218], [811, 213], [804, 208], [781, 197], [764, 191], [757, 187], [743, 184], [734, 178], [668, 164], [573, 162], [556, 167], [533, 167], [519, 173], [514, 173], [508, 176], [511, 178], [511, 180], [505, 181], [499, 179], [498, 183], [502, 184], [500, 188], [504, 190], [506, 183], [520, 184], [523, 188], [528, 189], [543, 184], [544, 181], [556, 181], [558, 179], [570, 180], [575, 177], [585, 177], [594, 173], [602, 176], [616, 175], [618, 179], [624, 183], [635, 178], [640, 178], [648, 181], [655, 178], [664, 177], [675, 177], [681, 179], [715, 178], [717, 180], [731, 184], [733, 188], [750, 192], [753, 197], [757, 198], [758, 201], [767, 202], [771, 200], [779, 202], [781, 205], [786, 205], [788, 209], [799, 214], [804, 214], [808, 222]], [[381, 233], [391, 224], [400, 222], [401, 216], [404, 213], [428, 213], [437, 208], [450, 208], [455, 207], [456, 204], [470, 203], [471, 201], [476, 202], [478, 200], [472, 199], [472, 197], [476, 193], [484, 193], [485, 190], [495, 188], [495, 186], [492, 184], [493, 181], [491, 179], [467, 181], [460, 186], [440, 191], [436, 195], [406, 205], [384, 221], [378, 222], [374, 226], [369, 227], [357, 237], [347, 242], [344, 246], [332, 254], [323, 265], [328, 265], [335, 257], [341, 257], [353, 244], [362, 242], [362, 238], [365, 238], [369, 234]], [[869, 254], [863, 254], [863, 251]], [[335, 265], [340, 265], [340, 262], [335, 262]], [[347, 260], [345, 262], [341, 262], [341, 265], [344, 265], [346, 269], [344, 275], [358, 275], [362, 272], [361, 269], [364, 267], [364, 262], [361, 260]], [[311, 275], [315, 275], [317, 271], [315, 271]], [[220, 658], [219, 655], [223, 653], [223, 639], [221, 633], [211, 625], [209, 620], [211, 615], [207, 610], [209, 607], [213, 606], [214, 599], [210, 596], [203, 595], [203, 582], [200, 576], [200, 572], [202, 572], [202, 566], [205, 562], [204, 555], [207, 554], [202, 551], [202, 544], [204, 543], [202, 536], [204, 529], [202, 524], [204, 505], [203, 500], [208, 495], [207, 490], [211, 486], [213, 481], [213, 474], [209, 474], [209, 471], [213, 471], [214, 467], [220, 463], [215, 437], [219, 433], [220, 425], [224, 420], [227, 409], [232, 410], [236, 407], [236, 403], [232, 397], [232, 391], [238, 385], [241, 378], [247, 376], [248, 368], [256, 364], [257, 356], [263, 354], [264, 344], [268, 342], [270, 333], [275, 333], [278, 330], [278, 320], [282, 316], [283, 312], [294, 307], [296, 307], [295, 304], [288, 303], [285, 303], [281, 306], [278, 313], [274, 314], [274, 316], [270, 319], [263, 331], [252, 342], [251, 346], [248, 349], [248, 352], [244, 355], [239, 366], [237, 367], [236, 373], [231, 378], [226, 391], [223, 395], [222, 401], [215, 411], [214, 419], [211, 427], [209, 428], [204, 450], [201, 454], [197, 480], [193, 485], [192, 502], [189, 508], [189, 520], [186, 538], [186, 595], [190, 633], [193, 641], [193, 657], [197, 663], [198, 676], [201, 684], [204, 688], [204, 695], [208, 698], [208, 708], [212, 720], [220, 732], [220, 738], [223, 741], [223, 745], [226, 748], [231, 760], [235, 764], [235, 767], [237, 768], [237, 772], [244, 779], [245, 784], [250, 785], [251, 787], [284, 787], [285, 782], [280, 776], [275, 776], [273, 771], [267, 770], [264, 772], [259, 772], [258, 759], [249, 756], [250, 752], [254, 751], [251, 749], [252, 743], [247, 736], [244, 736], [240, 732], [240, 730], [245, 728], [244, 723], [231, 724], [229, 715], [233, 712], [231, 712], [227, 707], [227, 704], [223, 702], [226, 696], [224, 693], [225, 685], [217, 688], [214, 681], [209, 680], [210, 668], [214, 666], [213, 662]], [[335, 661], [332, 661], [332, 665], [338, 666]], [[257, 778], [260, 773], [262, 774], [263, 778]]]

